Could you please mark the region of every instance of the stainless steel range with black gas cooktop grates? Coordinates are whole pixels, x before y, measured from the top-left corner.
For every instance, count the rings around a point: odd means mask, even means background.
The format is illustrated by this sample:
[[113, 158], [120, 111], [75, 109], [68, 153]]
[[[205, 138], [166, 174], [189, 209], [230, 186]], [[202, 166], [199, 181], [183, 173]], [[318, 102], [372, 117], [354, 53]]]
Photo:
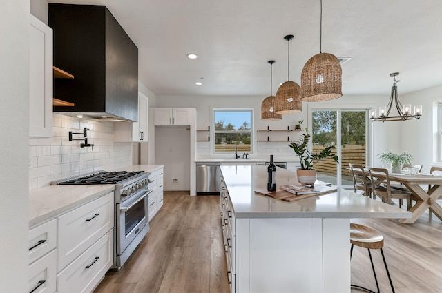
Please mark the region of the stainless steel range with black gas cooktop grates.
[[148, 189], [150, 173], [100, 171], [79, 178], [57, 181], [57, 185], [115, 184], [115, 261], [119, 270], [149, 230]]

